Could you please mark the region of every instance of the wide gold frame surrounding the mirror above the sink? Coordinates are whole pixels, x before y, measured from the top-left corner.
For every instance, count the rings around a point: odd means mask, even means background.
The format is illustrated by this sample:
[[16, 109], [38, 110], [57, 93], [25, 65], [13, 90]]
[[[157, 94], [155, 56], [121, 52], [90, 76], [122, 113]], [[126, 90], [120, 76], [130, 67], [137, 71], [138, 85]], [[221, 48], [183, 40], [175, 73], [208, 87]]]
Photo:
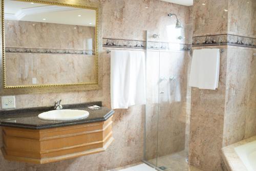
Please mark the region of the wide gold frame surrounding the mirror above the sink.
[[50, 5], [62, 5], [62, 6], [69, 6], [69, 7], [83, 7], [86, 9], [96, 9], [96, 26], [95, 31], [97, 34], [95, 34], [95, 42], [96, 42], [96, 82], [84, 82], [84, 83], [70, 83], [70, 84], [42, 84], [42, 85], [35, 85], [35, 86], [6, 86], [5, 85], [5, 61], [4, 59], [4, 51], [5, 47], [3, 46], [4, 43], [4, 0], [2, 0], [1, 3], [1, 28], [2, 28], [2, 34], [1, 34], [1, 57], [0, 57], [0, 95], [10, 95], [10, 94], [35, 94], [35, 93], [57, 93], [57, 92], [68, 92], [68, 91], [83, 91], [83, 90], [98, 90], [102, 87], [102, 80], [101, 80], [101, 52], [102, 52], [102, 8], [101, 4], [98, 3], [91, 3], [89, 1], [84, 0], [78, 0], [75, 2], [70, 3], [69, 1], [63, 1], [63, 0], [44, 0], [44, 1], [37, 1], [37, 0], [18, 0], [23, 2], [34, 2], [34, 3], [41, 3], [41, 4], [50, 4]]

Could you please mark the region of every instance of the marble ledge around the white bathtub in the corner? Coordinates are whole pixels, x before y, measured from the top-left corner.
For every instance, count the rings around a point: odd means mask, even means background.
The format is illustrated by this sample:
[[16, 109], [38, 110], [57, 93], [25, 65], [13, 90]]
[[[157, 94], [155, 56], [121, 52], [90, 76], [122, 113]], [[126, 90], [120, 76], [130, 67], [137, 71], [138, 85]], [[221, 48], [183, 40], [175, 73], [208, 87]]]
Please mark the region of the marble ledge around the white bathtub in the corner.
[[256, 136], [244, 139], [242, 141], [239, 141], [237, 143], [233, 143], [231, 145], [225, 146], [222, 148], [222, 159], [224, 163], [226, 164], [228, 171], [241, 171], [241, 170], [247, 170], [245, 167], [243, 161], [240, 159], [238, 154], [235, 151], [235, 147], [238, 147], [240, 145], [247, 144], [249, 142], [256, 141]]

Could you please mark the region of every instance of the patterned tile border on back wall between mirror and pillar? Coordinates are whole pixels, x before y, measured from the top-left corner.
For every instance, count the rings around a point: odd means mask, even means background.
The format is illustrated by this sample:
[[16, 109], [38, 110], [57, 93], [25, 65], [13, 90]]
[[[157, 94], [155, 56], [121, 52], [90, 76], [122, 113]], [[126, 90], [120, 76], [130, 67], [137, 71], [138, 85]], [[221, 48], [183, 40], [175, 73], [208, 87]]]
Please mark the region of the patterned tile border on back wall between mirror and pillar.
[[[103, 47], [146, 49], [146, 41], [103, 38]], [[173, 42], [148, 41], [147, 49], [189, 51], [191, 45]]]

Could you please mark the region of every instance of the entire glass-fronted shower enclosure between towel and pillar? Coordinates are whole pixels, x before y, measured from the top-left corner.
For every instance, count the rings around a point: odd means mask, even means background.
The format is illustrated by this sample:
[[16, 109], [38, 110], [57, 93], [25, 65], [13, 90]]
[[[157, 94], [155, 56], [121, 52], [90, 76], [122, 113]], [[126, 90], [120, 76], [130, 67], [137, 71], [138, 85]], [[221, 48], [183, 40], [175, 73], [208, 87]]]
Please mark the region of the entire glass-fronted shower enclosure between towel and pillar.
[[146, 34], [144, 162], [158, 170], [187, 168], [191, 40], [184, 37], [190, 27], [173, 24]]

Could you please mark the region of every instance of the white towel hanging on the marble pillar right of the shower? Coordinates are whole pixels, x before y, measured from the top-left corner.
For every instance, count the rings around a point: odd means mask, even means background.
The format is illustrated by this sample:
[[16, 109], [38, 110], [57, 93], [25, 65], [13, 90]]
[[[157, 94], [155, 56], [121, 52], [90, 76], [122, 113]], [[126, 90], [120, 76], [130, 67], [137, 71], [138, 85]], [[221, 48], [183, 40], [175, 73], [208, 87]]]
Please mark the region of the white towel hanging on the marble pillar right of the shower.
[[194, 50], [189, 78], [190, 87], [215, 90], [218, 88], [219, 74], [219, 49]]

